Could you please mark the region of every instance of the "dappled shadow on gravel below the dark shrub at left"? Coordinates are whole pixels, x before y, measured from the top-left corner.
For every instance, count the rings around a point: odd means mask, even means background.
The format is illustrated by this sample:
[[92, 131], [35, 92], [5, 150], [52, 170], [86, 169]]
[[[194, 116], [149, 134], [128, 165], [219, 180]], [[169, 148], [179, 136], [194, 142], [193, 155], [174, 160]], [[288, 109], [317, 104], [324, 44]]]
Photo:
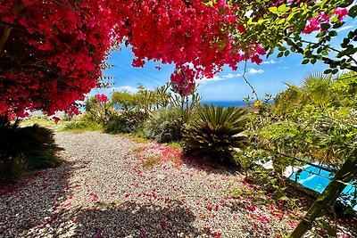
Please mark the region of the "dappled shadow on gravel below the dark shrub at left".
[[51, 229], [60, 217], [60, 204], [71, 195], [69, 177], [81, 167], [62, 161], [56, 168], [40, 170], [19, 183], [1, 187], [0, 237], [37, 237], [40, 228]]

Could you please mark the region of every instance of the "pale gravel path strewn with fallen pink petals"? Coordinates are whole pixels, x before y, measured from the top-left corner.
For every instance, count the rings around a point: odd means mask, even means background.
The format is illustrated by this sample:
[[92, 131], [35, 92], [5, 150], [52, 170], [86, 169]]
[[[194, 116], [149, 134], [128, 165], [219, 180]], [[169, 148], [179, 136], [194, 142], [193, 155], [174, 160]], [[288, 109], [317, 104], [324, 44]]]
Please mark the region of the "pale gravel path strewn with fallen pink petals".
[[232, 197], [253, 191], [242, 176], [178, 150], [99, 132], [56, 140], [60, 167], [0, 191], [0, 237], [282, 237], [296, 226], [289, 212]]

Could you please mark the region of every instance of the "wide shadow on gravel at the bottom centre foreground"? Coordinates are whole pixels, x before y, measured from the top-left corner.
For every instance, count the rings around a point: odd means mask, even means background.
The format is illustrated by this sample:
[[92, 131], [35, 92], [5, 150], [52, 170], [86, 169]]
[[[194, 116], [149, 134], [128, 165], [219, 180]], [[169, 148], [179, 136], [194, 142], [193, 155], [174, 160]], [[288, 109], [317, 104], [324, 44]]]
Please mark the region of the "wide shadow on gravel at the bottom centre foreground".
[[[103, 209], [103, 210], [102, 210]], [[197, 237], [195, 216], [180, 201], [165, 209], [151, 204], [125, 202], [99, 209], [79, 210], [75, 237]]]

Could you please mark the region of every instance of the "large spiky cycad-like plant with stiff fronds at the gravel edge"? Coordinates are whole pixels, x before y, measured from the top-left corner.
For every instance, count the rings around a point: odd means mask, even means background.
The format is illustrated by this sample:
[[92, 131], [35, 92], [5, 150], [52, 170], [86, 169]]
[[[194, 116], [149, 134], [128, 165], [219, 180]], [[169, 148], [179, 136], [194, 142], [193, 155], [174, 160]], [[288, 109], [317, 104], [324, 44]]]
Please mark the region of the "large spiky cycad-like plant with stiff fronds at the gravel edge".
[[235, 148], [248, 144], [245, 111], [242, 108], [203, 105], [183, 134], [187, 152], [195, 152], [220, 163], [233, 162]]

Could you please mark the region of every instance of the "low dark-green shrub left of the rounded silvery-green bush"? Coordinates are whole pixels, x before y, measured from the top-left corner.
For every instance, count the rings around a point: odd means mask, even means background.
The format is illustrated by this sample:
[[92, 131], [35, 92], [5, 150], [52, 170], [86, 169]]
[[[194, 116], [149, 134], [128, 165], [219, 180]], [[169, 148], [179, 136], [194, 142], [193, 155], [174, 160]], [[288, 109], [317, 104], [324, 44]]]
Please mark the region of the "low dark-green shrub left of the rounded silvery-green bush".
[[105, 125], [107, 133], [133, 133], [143, 126], [147, 114], [143, 111], [122, 111], [112, 117]]

